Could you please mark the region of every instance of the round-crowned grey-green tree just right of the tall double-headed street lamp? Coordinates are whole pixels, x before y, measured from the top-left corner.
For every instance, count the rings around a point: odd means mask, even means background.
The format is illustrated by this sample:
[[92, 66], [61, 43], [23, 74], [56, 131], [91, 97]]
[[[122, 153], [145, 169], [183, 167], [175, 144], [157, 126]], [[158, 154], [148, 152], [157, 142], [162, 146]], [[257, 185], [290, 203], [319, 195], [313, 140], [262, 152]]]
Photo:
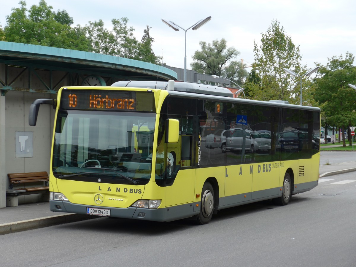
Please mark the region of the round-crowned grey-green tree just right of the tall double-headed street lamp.
[[198, 73], [230, 78], [242, 86], [247, 76], [247, 71], [244, 69], [245, 66], [242, 62], [233, 60], [240, 54], [237, 49], [234, 47], [227, 48], [224, 38], [220, 41], [214, 40], [211, 44], [201, 41], [199, 45], [201, 51], [195, 51], [192, 56], [193, 63], [190, 64], [192, 70]]

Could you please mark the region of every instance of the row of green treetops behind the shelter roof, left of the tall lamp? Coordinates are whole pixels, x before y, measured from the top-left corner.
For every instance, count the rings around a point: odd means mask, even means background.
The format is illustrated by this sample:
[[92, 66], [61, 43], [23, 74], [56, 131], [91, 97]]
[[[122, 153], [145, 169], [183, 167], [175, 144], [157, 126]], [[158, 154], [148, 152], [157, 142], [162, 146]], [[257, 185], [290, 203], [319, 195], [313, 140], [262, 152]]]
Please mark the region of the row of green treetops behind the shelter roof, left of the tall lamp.
[[112, 30], [104, 27], [103, 20], [90, 22], [89, 25], [72, 27], [73, 18], [66, 10], [54, 12], [45, 0], [32, 5], [27, 10], [26, 2], [20, 1], [20, 7], [13, 8], [6, 17], [4, 31], [0, 27], [0, 40], [33, 45], [68, 48], [86, 52], [108, 54], [145, 62], [160, 64], [152, 50], [154, 38], [150, 36], [150, 27], [143, 31], [141, 43], [133, 36], [133, 27], [127, 26], [129, 19], [113, 19]]

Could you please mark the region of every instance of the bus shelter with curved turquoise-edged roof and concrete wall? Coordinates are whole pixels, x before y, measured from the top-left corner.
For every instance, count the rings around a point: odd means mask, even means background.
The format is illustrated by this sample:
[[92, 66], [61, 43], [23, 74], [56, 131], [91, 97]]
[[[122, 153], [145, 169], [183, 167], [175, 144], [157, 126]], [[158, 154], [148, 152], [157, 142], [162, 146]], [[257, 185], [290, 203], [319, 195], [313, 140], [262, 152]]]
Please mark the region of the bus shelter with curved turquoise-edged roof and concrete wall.
[[[57, 98], [63, 86], [110, 86], [120, 80], [166, 81], [177, 73], [160, 65], [70, 49], [0, 42], [0, 208], [6, 206], [8, 173], [49, 172], [54, 110], [43, 105], [36, 127], [31, 103]], [[19, 203], [40, 195], [19, 196]]]

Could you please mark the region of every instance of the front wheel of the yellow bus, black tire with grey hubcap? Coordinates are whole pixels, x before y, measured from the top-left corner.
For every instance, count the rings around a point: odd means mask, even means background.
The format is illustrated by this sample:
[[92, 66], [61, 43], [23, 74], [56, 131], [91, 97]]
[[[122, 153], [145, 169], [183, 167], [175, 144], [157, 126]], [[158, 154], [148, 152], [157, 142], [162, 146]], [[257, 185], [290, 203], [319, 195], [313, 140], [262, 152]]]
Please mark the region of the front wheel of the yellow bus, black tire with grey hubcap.
[[197, 223], [207, 224], [211, 220], [214, 212], [214, 189], [209, 182], [205, 182], [201, 190], [200, 213]]

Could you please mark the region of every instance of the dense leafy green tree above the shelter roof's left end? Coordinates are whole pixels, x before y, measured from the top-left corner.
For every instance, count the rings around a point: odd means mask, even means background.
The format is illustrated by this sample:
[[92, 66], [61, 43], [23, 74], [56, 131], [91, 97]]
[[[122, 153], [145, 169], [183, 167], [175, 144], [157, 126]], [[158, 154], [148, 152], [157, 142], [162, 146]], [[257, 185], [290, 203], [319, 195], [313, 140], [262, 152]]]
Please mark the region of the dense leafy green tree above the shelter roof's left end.
[[25, 1], [19, 4], [20, 7], [13, 8], [12, 13], [6, 16], [6, 41], [92, 51], [80, 25], [70, 26], [73, 19], [67, 11], [58, 10], [56, 13], [45, 0], [40, 0], [38, 6], [32, 5], [29, 10]]

